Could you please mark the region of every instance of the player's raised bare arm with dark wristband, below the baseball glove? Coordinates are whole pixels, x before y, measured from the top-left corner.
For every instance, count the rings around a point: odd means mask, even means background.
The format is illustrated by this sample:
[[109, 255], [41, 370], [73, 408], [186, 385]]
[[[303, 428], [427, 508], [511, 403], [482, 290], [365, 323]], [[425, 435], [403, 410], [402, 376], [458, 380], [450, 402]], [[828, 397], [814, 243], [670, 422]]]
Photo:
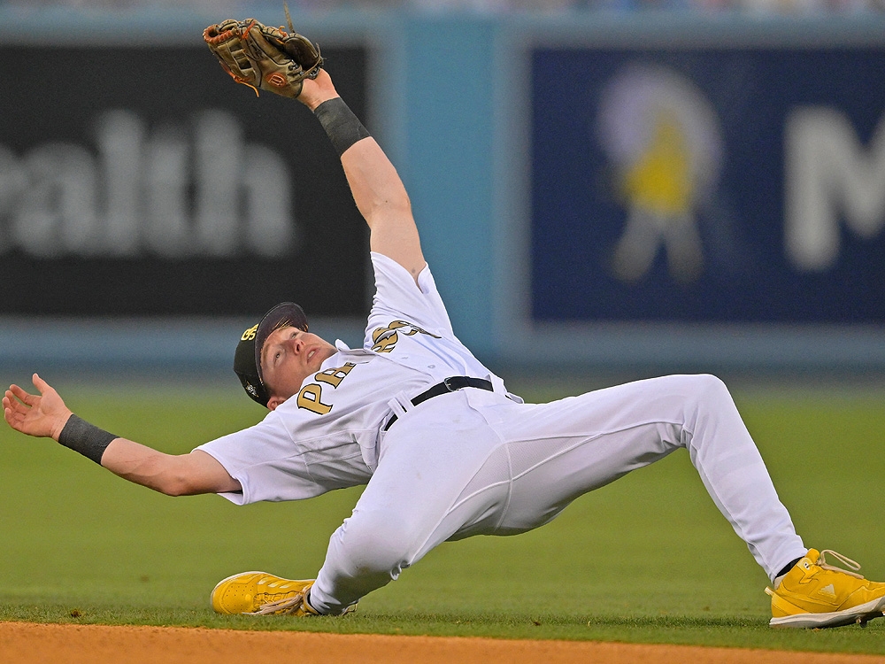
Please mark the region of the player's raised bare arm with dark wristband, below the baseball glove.
[[320, 70], [315, 81], [304, 81], [298, 101], [317, 115], [339, 150], [350, 192], [369, 226], [372, 251], [396, 260], [417, 281], [427, 263], [396, 168], [343, 104], [326, 71]]

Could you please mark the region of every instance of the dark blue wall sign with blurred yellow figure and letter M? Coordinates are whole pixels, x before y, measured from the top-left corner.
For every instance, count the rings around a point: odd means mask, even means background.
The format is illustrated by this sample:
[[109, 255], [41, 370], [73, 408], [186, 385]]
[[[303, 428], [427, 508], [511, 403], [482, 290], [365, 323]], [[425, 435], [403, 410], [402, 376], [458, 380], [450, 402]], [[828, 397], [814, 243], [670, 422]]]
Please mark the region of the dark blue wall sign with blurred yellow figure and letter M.
[[532, 66], [534, 320], [885, 323], [885, 48]]

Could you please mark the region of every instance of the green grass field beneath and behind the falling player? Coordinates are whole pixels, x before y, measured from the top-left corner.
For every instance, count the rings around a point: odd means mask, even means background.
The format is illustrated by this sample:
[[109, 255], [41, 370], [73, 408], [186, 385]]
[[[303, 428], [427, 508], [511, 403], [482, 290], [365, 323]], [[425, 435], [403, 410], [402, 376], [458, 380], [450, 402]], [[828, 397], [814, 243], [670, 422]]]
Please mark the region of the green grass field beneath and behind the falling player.
[[[512, 388], [535, 400], [559, 396], [526, 384]], [[167, 452], [187, 452], [262, 414], [230, 386], [195, 384], [194, 394], [158, 384], [57, 387], [82, 417]], [[735, 400], [806, 543], [843, 552], [885, 580], [885, 392], [743, 388]], [[209, 592], [227, 575], [315, 575], [358, 494], [244, 507], [216, 496], [167, 498], [4, 425], [0, 620], [885, 653], [885, 619], [866, 629], [768, 628], [766, 575], [684, 452], [584, 496], [543, 529], [443, 544], [364, 598], [357, 614], [297, 621], [212, 613]]]

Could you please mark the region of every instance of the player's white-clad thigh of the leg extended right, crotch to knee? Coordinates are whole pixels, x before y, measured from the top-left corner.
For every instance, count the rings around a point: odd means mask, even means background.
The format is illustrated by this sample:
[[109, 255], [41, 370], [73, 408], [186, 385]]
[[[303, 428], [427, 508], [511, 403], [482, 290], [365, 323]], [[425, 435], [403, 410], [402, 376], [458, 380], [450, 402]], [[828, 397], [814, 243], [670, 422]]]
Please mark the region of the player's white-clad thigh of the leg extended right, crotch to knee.
[[501, 428], [512, 464], [501, 529], [550, 521], [581, 494], [684, 447], [686, 418], [710, 378], [666, 376], [512, 408]]

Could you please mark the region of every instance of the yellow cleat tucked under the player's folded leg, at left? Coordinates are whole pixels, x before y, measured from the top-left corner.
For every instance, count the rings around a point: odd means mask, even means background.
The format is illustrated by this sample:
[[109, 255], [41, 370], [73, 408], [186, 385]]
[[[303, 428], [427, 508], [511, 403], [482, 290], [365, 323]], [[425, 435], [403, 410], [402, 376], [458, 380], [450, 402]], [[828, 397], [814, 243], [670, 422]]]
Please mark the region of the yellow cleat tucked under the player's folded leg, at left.
[[212, 590], [217, 614], [319, 615], [307, 603], [313, 579], [292, 581], [266, 572], [228, 576]]

